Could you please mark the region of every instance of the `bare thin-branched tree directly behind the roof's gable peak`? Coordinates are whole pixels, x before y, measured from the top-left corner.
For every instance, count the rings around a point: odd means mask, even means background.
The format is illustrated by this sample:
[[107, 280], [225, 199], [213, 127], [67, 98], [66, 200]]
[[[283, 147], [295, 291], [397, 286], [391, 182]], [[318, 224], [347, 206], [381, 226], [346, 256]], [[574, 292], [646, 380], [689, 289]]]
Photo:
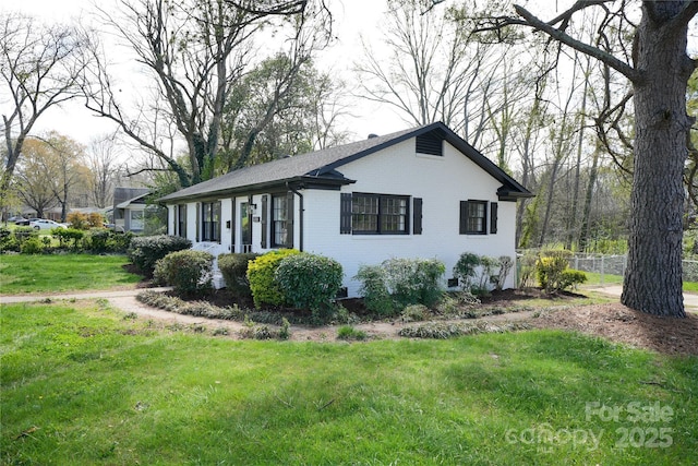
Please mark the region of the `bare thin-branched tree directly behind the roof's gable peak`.
[[460, 21], [465, 7], [440, 15], [424, 12], [419, 0], [388, 4], [389, 55], [364, 46], [365, 57], [354, 63], [361, 97], [394, 107], [410, 124], [443, 121], [477, 144], [486, 120], [483, 97], [495, 86], [496, 46], [469, 35]]

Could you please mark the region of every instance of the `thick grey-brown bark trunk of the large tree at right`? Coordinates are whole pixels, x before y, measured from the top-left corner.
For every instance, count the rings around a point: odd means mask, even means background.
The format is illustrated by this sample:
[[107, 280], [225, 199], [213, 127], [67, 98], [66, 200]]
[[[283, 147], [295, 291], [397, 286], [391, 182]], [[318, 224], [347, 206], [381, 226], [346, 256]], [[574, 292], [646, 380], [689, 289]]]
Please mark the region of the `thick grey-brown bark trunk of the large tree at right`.
[[682, 295], [682, 186], [686, 160], [686, 86], [694, 62], [687, 27], [672, 19], [684, 2], [643, 7], [634, 47], [635, 171], [628, 266], [621, 301], [655, 314], [685, 316]]

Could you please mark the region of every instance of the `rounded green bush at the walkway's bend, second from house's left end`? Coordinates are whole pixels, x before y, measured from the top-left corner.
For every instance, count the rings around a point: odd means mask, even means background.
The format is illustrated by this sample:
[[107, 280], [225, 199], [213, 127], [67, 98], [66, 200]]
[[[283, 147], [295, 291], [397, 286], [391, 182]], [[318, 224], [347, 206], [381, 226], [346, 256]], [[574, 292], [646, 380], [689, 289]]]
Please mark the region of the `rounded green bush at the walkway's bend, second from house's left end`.
[[153, 278], [180, 295], [201, 295], [213, 288], [214, 256], [205, 251], [170, 252], [155, 264]]

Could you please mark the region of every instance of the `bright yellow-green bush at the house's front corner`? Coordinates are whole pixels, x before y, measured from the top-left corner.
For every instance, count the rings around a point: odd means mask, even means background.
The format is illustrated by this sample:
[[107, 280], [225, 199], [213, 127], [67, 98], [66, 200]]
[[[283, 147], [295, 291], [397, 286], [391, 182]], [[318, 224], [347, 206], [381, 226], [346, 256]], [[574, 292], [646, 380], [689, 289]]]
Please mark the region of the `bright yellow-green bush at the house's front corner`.
[[260, 255], [248, 265], [248, 280], [252, 299], [257, 308], [264, 304], [282, 306], [286, 297], [274, 278], [274, 273], [287, 255], [300, 254], [297, 249], [279, 249]]

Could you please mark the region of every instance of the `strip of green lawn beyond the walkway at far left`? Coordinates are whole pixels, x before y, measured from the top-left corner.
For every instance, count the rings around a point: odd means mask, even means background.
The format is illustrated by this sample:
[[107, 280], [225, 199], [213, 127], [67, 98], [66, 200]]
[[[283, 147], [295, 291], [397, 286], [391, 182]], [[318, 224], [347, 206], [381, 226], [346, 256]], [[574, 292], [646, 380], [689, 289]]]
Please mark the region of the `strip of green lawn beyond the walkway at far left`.
[[108, 289], [133, 285], [141, 276], [123, 270], [123, 255], [2, 254], [0, 292], [48, 292]]

